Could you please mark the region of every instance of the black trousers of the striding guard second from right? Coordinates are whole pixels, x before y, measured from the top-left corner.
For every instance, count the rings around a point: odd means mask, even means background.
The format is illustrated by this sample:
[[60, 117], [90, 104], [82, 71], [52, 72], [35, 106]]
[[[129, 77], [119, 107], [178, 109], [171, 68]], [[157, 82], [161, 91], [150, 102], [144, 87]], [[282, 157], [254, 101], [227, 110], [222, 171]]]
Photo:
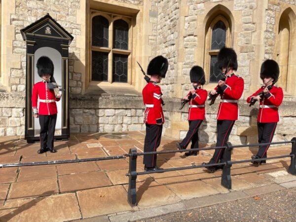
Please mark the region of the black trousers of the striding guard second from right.
[[[216, 147], [223, 147], [228, 141], [235, 120], [217, 120], [217, 143]], [[214, 155], [210, 163], [223, 162], [224, 149], [215, 149]]]

